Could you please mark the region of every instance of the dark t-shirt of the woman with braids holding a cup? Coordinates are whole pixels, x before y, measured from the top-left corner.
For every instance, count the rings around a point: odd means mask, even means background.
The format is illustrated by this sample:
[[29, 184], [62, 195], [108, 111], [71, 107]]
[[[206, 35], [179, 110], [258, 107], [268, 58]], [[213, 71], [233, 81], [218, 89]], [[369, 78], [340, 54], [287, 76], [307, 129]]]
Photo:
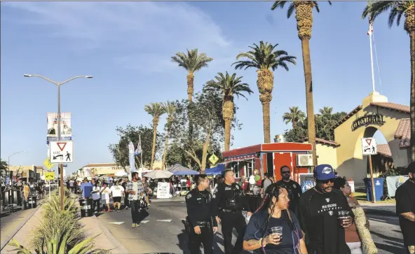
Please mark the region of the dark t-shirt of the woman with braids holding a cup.
[[[271, 227], [282, 226], [283, 241], [281, 244], [267, 244], [264, 249], [266, 254], [293, 254], [294, 244], [297, 246], [297, 244], [299, 244], [299, 239], [303, 238], [297, 217], [294, 213], [291, 213], [291, 219], [294, 225], [294, 231], [292, 231], [289, 226], [290, 218], [288, 218], [287, 213], [283, 212], [281, 218], [269, 218], [269, 223], [267, 225], [266, 220], [268, 219], [268, 216], [268, 211], [258, 211], [252, 215], [245, 230], [245, 236], [243, 237], [244, 241], [264, 238], [268, 236], [268, 234], [271, 234]], [[262, 254], [261, 248], [255, 250], [254, 254]]]

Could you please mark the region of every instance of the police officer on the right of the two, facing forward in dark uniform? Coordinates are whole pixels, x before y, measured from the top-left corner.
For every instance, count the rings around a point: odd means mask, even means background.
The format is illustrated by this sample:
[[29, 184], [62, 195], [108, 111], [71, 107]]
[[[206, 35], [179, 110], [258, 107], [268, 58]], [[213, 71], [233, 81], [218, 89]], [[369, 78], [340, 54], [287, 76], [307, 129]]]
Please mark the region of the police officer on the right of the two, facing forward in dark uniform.
[[[224, 182], [219, 183], [213, 192], [213, 201], [215, 216], [218, 221], [220, 218], [222, 223], [225, 253], [240, 254], [246, 229], [245, 218], [242, 215], [243, 206], [248, 208], [247, 216], [252, 216], [252, 212], [249, 211], [247, 200], [243, 197], [243, 190], [235, 183], [232, 170], [226, 169]], [[238, 232], [235, 247], [232, 247], [233, 227]]]

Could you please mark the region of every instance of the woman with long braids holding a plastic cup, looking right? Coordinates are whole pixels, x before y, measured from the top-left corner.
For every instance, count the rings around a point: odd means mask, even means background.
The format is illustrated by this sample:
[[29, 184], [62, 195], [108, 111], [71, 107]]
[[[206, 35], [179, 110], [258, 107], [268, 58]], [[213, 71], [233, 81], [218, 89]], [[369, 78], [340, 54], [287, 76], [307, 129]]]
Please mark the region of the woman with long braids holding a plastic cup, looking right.
[[[285, 185], [268, 186], [259, 209], [245, 231], [243, 248], [254, 254], [307, 254], [297, 217], [288, 210], [290, 198]], [[283, 234], [271, 229], [283, 227]]]

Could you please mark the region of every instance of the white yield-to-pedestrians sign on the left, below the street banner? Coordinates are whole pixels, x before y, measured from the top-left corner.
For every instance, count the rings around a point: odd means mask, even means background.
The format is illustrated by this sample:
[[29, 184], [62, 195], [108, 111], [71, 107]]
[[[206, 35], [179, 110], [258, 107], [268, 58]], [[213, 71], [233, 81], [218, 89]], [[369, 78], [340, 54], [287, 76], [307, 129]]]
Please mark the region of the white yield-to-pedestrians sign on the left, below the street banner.
[[[74, 163], [74, 141], [50, 141], [51, 163]], [[62, 172], [61, 172], [62, 173]]]

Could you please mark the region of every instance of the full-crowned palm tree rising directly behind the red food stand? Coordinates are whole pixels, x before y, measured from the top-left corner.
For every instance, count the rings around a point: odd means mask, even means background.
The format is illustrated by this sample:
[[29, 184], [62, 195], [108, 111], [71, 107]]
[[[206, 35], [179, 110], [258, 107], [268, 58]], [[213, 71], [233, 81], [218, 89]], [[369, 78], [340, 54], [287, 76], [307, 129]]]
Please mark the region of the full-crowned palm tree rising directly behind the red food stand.
[[[271, 133], [269, 130], [269, 104], [272, 100], [272, 91], [274, 86], [273, 72], [278, 67], [283, 67], [288, 71], [288, 63], [296, 64], [295, 59], [288, 55], [285, 50], [276, 50], [278, 44], [272, 45], [268, 42], [259, 41], [259, 45], [250, 46], [251, 50], [247, 52], [240, 52], [236, 59], [245, 57], [243, 61], [234, 62], [235, 69], [255, 68], [257, 69], [257, 85], [259, 90], [259, 101], [262, 104], [262, 118], [264, 119], [264, 142], [271, 143]], [[233, 65], [232, 64], [232, 65]], [[272, 69], [272, 71], [271, 71]]]

